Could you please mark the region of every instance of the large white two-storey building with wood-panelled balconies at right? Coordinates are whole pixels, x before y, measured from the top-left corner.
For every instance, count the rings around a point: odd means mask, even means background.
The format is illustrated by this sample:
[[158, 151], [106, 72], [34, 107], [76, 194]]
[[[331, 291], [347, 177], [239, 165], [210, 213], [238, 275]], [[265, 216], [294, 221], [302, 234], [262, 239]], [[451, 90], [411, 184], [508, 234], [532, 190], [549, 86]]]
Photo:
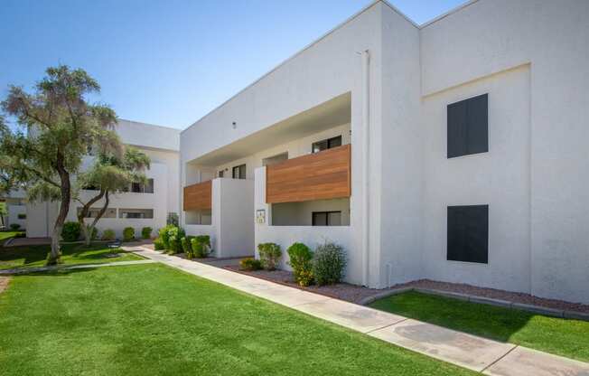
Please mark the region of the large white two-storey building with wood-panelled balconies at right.
[[588, 20], [585, 0], [421, 26], [369, 5], [182, 131], [182, 225], [221, 257], [332, 240], [369, 287], [589, 303]]

